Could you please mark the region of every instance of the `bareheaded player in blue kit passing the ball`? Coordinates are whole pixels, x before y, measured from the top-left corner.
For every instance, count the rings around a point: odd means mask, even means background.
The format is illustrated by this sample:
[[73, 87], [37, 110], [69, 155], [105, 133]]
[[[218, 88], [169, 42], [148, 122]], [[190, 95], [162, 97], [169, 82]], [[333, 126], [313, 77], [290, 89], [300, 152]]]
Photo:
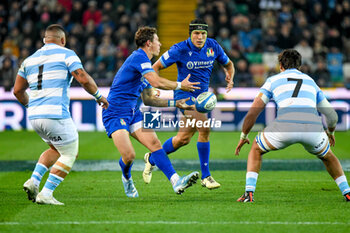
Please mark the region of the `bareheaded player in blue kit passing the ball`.
[[192, 172], [183, 177], [176, 173], [155, 132], [153, 130], [146, 131], [142, 128], [143, 116], [137, 101], [142, 92], [145, 104], [153, 104], [159, 107], [175, 107], [176, 105], [191, 109], [192, 107], [184, 105], [184, 103], [175, 103], [175, 101], [159, 99], [154, 101], [151, 89], [146, 87], [149, 86], [149, 82], [155, 88], [194, 91], [200, 88], [194, 86], [198, 85], [199, 82], [188, 81], [189, 75], [182, 82], [173, 82], [157, 75], [150, 61], [153, 56], [159, 55], [161, 46], [155, 28], [139, 28], [135, 34], [135, 42], [138, 49], [126, 59], [114, 77], [107, 97], [110, 105], [108, 109], [104, 109], [102, 112], [103, 124], [108, 137], [113, 139], [114, 145], [121, 154], [119, 165], [123, 173], [122, 182], [125, 194], [128, 197], [134, 198], [139, 195], [131, 177], [135, 151], [129, 135], [137, 139], [154, 154], [156, 165], [170, 180], [175, 193], [181, 194], [196, 182], [198, 172]]

